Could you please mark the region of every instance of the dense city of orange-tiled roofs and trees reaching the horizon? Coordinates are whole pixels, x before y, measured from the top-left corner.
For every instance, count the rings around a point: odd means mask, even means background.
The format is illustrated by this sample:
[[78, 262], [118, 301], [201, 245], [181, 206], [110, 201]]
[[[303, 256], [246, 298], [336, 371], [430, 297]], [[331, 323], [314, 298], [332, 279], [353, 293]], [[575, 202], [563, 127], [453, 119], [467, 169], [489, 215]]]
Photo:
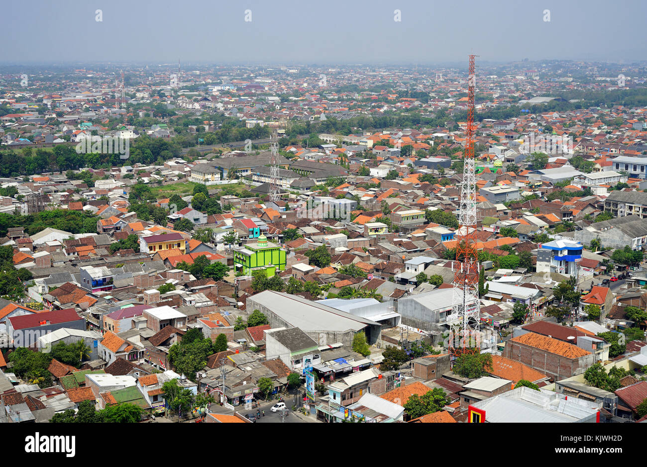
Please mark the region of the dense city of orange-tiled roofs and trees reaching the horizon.
[[647, 422], [646, 79], [0, 63], [0, 422]]

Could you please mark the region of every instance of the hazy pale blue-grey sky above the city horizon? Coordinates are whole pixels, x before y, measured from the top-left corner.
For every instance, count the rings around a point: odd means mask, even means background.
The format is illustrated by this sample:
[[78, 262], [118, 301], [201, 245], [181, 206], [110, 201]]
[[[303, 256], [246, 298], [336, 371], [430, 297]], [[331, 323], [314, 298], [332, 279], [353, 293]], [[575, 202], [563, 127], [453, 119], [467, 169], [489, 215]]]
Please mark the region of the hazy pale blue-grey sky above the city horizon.
[[5, 63], [464, 63], [472, 50], [483, 61], [647, 59], [644, 0], [10, 0], [1, 10]]

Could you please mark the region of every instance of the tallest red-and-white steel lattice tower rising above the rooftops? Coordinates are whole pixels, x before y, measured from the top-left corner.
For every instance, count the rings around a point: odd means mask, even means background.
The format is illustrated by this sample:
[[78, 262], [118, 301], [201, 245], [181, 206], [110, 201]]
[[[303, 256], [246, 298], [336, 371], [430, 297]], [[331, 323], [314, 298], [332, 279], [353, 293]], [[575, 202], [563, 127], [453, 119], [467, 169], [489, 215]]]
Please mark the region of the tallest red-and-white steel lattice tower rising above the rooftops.
[[463, 182], [461, 182], [461, 205], [457, 232], [456, 261], [454, 274], [454, 299], [450, 323], [450, 352], [480, 353], [479, 330], [479, 263], [476, 249], [476, 175], [474, 173], [474, 88], [476, 85], [474, 58], [470, 54], [468, 73], [468, 104]]

